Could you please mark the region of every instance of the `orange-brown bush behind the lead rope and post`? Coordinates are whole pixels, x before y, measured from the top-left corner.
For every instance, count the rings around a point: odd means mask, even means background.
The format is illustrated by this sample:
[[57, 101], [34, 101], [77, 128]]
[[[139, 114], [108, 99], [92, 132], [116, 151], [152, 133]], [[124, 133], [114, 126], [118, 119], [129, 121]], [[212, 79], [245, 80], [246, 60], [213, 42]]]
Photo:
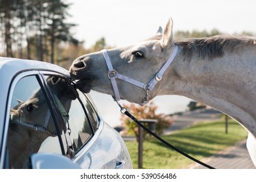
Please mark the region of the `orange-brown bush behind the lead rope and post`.
[[[135, 116], [135, 118], [137, 118], [137, 120], [157, 120], [155, 131], [157, 135], [163, 134], [164, 129], [167, 129], [174, 122], [170, 116], [165, 114], [156, 114], [155, 112], [157, 110], [157, 106], [155, 106], [153, 102], [150, 102], [144, 106], [135, 105], [132, 103], [131, 105], [124, 105], [124, 107], [129, 108], [129, 111], [133, 114], [133, 116]], [[123, 114], [121, 115], [120, 119], [123, 122], [123, 125], [125, 125], [125, 128], [127, 128], [128, 133], [135, 135], [138, 140], [138, 126], [136, 123]], [[144, 133], [144, 136], [146, 135], [147, 133]]]

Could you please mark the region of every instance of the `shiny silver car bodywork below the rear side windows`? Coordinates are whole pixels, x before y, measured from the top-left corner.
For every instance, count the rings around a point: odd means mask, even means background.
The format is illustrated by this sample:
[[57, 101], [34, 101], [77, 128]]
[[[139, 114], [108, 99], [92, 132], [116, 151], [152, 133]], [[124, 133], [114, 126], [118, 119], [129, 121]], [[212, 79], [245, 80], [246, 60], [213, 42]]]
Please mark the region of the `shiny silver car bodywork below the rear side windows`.
[[82, 168], [116, 168], [122, 161], [125, 162], [124, 168], [132, 168], [129, 153], [123, 148], [125, 145], [123, 139], [117, 131], [113, 132], [111, 128], [106, 123], [100, 125], [95, 133], [98, 135], [97, 140], [90, 141], [90, 148], [85, 150], [86, 152], [80, 151], [74, 157], [74, 161]]

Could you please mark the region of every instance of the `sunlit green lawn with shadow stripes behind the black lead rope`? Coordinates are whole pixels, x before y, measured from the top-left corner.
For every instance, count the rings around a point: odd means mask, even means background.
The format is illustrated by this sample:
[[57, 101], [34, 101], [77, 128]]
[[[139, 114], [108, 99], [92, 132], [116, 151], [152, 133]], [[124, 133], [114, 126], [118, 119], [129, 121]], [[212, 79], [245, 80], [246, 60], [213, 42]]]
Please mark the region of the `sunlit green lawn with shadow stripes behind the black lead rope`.
[[[200, 160], [214, 155], [218, 151], [233, 146], [239, 140], [246, 139], [248, 132], [239, 123], [229, 120], [229, 133], [225, 134], [225, 122], [203, 122], [187, 129], [183, 129], [172, 135], [164, 135], [176, 148]], [[138, 143], [136, 141], [125, 142], [133, 168], [138, 168]], [[187, 159], [180, 153], [168, 148], [155, 138], [144, 141], [143, 144], [143, 168], [168, 169], [186, 168], [195, 162]]]

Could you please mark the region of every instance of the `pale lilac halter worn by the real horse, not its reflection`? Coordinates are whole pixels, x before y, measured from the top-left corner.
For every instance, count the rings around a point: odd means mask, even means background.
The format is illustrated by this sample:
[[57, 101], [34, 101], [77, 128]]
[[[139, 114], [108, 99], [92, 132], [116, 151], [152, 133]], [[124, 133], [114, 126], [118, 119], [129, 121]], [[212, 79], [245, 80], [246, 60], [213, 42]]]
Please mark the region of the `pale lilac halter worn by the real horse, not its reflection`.
[[155, 77], [153, 77], [153, 79], [148, 84], [141, 83], [140, 81], [136, 81], [135, 79], [132, 79], [130, 77], [127, 77], [125, 75], [121, 75], [120, 73], [118, 73], [116, 70], [113, 69], [110, 57], [108, 56], [108, 51], [106, 49], [103, 49], [101, 50], [101, 52], [103, 53], [104, 59], [106, 61], [106, 66], [108, 67], [108, 78], [110, 79], [112, 88], [114, 90], [114, 94], [116, 98], [115, 100], [119, 101], [121, 99], [118, 91], [118, 85], [116, 84], [116, 79], [121, 79], [123, 81], [126, 81], [127, 83], [131, 83], [132, 85], [138, 86], [146, 90], [147, 97], [144, 98], [144, 102], [142, 103], [142, 105], [145, 105], [149, 101], [148, 91], [153, 90], [157, 82], [161, 81], [163, 77], [163, 73], [165, 73], [165, 70], [167, 70], [168, 66], [170, 66], [170, 64], [176, 57], [176, 54], [178, 52], [178, 46], [174, 45], [174, 51], [172, 52], [172, 55], [170, 55], [170, 58], [167, 60], [167, 62], [165, 62], [161, 70], [155, 75]]

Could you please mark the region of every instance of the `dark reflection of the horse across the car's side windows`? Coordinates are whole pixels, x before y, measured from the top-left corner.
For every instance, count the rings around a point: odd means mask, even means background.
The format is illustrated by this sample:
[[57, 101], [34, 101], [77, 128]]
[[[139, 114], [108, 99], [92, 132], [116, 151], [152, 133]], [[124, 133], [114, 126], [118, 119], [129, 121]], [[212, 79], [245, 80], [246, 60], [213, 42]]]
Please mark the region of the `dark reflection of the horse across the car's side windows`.
[[[75, 99], [67, 82], [59, 77], [48, 77], [47, 84], [54, 95], [69, 110], [71, 100]], [[67, 131], [65, 123], [57, 122], [58, 128]], [[60, 131], [61, 132], [61, 131]], [[49, 136], [57, 136], [56, 126], [44, 93], [39, 89], [27, 101], [19, 101], [10, 110], [8, 129], [8, 149], [10, 168], [27, 168], [27, 159]]]

